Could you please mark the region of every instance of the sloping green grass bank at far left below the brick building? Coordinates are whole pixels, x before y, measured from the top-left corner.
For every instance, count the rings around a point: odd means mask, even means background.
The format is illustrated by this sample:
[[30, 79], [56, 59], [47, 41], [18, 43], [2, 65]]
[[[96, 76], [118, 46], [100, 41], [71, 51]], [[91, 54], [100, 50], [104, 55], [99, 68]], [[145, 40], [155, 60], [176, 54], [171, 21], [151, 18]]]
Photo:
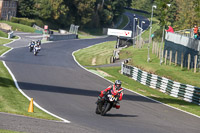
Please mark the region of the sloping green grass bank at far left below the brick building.
[[27, 25], [12, 23], [12, 22], [9, 22], [9, 21], [2, 21], [2, 20], [0, 22], [6, 23], [6, 24], [12, 26], [12, 30], [14, 30], [14, 31], [31, 32], [31, 33], [35, 32], [35, 29], [33, 27], [30, 27], [30, 26], [27, 26]]

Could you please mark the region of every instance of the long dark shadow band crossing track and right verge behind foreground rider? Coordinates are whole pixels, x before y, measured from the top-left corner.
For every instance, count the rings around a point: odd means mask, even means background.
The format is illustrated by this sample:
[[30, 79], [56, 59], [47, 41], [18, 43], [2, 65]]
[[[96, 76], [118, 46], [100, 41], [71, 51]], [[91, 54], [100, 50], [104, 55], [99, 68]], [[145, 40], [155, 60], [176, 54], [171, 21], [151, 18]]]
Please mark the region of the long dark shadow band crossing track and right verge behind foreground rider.
[[[18, 84], [22, 90], [46, 91], [46, 92], [52, 92], [52, 93], [64, 93], [64, 94], [80, 95], [80, 96], [88, 96], [88, 97], [98, 97], [100, 94], [100, 91], [92, 90], [92, 89], [86, 90], [86, 89], [81, 89], [81, 88], [68, 88], [68, 87], [32, 84], [32, 83], [24, 83], [24, 82], [19, 82]], [[155, 99], [154, 97], [150, 97], [150, 98]], [[135, 93], [127, 94], [126, 90], [125, 90], [125, 94], [123, 96], [123, 101], [124, 100], [157, 103], [150, 99], [139, 96]], [[156, 100], [165, 102], [167, 104], [168, 103], [180, 103], [182, 105], [196, 106], [195, 104], [193, 105], [191, 103], [185, 102], [185, 101], [183, 101], [181, 99], [177, 99], [177, 98], [170, 98], [170, 99], [169, 98], [156, 98]], [[157, 103], [157, 104], [160, 104], [160, 103]]]

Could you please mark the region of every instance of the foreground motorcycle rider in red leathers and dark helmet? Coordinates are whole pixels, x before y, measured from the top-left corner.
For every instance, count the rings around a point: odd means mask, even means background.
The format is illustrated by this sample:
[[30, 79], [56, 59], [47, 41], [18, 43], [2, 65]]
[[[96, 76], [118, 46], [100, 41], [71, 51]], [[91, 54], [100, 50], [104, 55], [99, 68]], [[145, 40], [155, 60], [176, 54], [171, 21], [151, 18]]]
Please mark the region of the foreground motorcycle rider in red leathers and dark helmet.
[[98, 100], [102, 100], [102, 97], [107, 93], [107, 91], [112, 89], [112, 92], [114, 93], [114, 95], [117, 95], [118, 97], [118, 101], [116, 103], [116, 105], [114, 106], [116, 109], [120, 108], [120, 103], [119, 101], [122, 100], [123, 97], [123, 91], [124, 89], [121, 87], [121, 81], [120, 80], [116, 80], [115, 83], [113, 85], [108, 86], [108, 88], [106, 88], [105, 90], [101, 91], [101, 94], [98, 97]]

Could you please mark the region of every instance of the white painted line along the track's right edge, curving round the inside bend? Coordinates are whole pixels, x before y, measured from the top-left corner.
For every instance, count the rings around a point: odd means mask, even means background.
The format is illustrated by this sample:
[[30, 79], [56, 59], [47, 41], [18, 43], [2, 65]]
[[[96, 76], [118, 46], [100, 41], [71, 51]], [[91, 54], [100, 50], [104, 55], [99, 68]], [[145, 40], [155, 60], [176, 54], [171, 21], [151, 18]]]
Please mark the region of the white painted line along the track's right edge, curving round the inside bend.
[[[96, 45], [99, 45], [99, 44], [101, 44], [101, 43], [98, 43], [98, 44], [96, 44]], [[94, 45], [92, 45], [92, 46], [94, 46]], [[91, 47], [91, 46], [89, 46], [89, 47]], [[86, 47], [86, 48], [89, 48], [89, 47]], [[75, 58], [75, 56], [74, 56], [74, 53], [75, 53], [75, 52], [78, 52], [79, 50], [80, 50], [80, 49], [74, 51], [74, 52], [72, 53], [72, 56], [73, 56], [73, 58], [74, 58], [74, 61], [75, 61], [81, 68], [83, 68], [83, 69], [85, 69], [86, 71], [88, 71], [88, 72], [90, 72], [90, 73], [93, 73], [93, 74], [95, 74], [95, 75], [97, 75], [97, 76], [99, 76], [99, 77], [101, 77], [101, 78], [103, 78], [103, 79], [109, 81], [110, 83], [113, 83], [112, 81], [110, 81], [110, 80], [104, 78], [104, 77], [101, 76], [101, 75], [98, 75], [97, 73], [94, 73], [94, 72], [92, 72], [92, 71], [89, 71], [88, 69], [86, 69], [85, 67], [83, 67], [81, 64], [79, 64], [79, 62], [76, 60], [76, 58]], [[171, 106], [171, 105], [168, 105], [168, 104], [162, 103], [162, 102], [160, 102], [160, 101], [157, 101], [157, 100], [155, 100], [155, 99], [149, 98], [149, 97], [144, 96], [144, 95], [142, 95], [142, 94], [140, 94], [140, 93], [137, 93], [137, 92], [135, 92], [135, 91], [133, 91], [133, 90], [130, 90], [130, 89], [127, 89], [127, 88], [124, 88], [124, 89], [127, 90], [127, 91], [130, 91], [130, 92], [132, 92], [132, 93], [135, 93], [135, 94], [137, 94], [137, 95], [140, 95], [140, 96], [142, 96], [142, 97], [145, 97], [145, 98], [147, 98], [147, 99], [149, 99], [149, 100], [152, 100], [152, 101], [154, 101], [154, 102], [157, 102], [157, 103], [160, 103], [160, 104], [162, 104], [162, 105], [165, 105], [165, 106], [167, 106], [167, 107], [170, 107], [170, 108], [179, 110], [179, 111], [181, 111], [181, 112], [184, 112], [184, 113], [186, 113], [186, 114], [189, 114], [189, 115], [195, 116], [195, 117], [197, 117], [197, 118], [200, 118], [200, 116], [198, 116], [198, 115], [192, 114], [192, 113], [190, 113], [190, 112], [181, 110], [181, 109], [179, 109], [179, 108], [176, 108], [176, 107], [173, 107], [173, 106]]]

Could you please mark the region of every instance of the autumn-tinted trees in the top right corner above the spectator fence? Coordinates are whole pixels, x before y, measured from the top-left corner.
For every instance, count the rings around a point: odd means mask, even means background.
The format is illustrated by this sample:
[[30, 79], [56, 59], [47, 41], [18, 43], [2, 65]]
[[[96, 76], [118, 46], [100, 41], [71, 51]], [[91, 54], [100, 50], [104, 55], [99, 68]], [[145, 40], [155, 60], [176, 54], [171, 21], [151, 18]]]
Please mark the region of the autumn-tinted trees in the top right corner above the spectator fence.
[[131, 7], [151, 13], [152, 5], [157, 6], [154, 15], [161, 27], [183, 30], [200, 26], [200, 0], [132, 0]]

